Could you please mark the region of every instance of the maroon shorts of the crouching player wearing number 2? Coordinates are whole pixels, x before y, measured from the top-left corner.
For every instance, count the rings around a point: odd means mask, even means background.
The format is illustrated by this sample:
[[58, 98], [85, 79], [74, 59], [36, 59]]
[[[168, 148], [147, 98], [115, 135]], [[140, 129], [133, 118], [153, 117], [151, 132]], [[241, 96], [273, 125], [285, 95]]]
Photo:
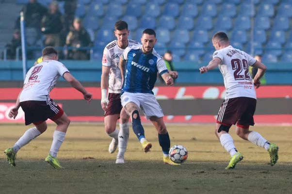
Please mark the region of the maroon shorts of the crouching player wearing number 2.
[[46, 120], [52, 121], [60, 118], [64, 111], [52, 99], [48, 101], [28, 100], [20, 102], [24, 112], [25, 125], [40, 125]]

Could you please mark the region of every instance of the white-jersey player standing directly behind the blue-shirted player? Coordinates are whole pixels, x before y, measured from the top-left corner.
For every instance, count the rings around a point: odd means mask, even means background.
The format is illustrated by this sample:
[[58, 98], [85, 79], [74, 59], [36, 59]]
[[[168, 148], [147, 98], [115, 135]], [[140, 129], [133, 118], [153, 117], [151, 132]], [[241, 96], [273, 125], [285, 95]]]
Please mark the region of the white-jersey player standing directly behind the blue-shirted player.
[[[109, 146], [109, 152], [114, 153], [117, 146], [116, 163], [124, 163], [125, 150], [129, 139], [129, 116], [122, 109], [121, 88], [122, 77], [119, 68], [120, 56], [127, 47], [140, 45], [137, 41], [129, 40], [128, 24], [125, 21], [117, 21], [114, 25], [114, 34], [117, 40], [110, 42], [103, 51], [102, 74], [101, 74], [101, 107], [105, 111], [104, 126], [105, 132], [113, 137]], [[107, 93], [107, 89], [109, 89]], [[116, 129], [116, 122], [120, 118], [119, 127]]]

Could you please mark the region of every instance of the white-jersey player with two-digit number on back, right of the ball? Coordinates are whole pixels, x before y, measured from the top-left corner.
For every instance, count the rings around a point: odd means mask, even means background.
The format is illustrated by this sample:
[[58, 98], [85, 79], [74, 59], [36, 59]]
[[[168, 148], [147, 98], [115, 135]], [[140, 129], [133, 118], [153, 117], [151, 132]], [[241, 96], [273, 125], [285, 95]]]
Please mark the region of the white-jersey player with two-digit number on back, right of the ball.
[[[249, 130], [249, 126], [255, 124], [253, 118], [257, 105], [255, 87], [260, 87], [260, 78], [264, 75], [266, 66], [242, 50], [233, 48], [225, 32], [216, 32], [212, 43], [216, 49], [213, 60], [208, 66], [201, 67], [200, 72], [207, 73], [219, 66], [224, 78], [226, 97], [217, 116], [215, 134], [231, 156], [226, 169], [234, 168], [243, 160], [243, 155], [236, 150], [233, 139], [228, 133], [230, 127], [235, 124], [237, 124], [236, 134], [244, 140], [264, 147], [270, 155], [271, 166], [275, 165], [279, 147], [270, 144], [260, 133]], [[254, 82], [248, 73], [248, 66], [259, 69]]]

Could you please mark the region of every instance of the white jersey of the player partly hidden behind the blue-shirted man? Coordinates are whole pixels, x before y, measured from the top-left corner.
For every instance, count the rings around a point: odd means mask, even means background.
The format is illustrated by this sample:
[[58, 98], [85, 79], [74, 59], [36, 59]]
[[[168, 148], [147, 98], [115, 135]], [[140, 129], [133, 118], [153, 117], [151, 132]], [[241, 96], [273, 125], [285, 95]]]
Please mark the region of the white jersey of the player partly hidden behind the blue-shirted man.
[[[128, 40], [128, 47], [140, 45], [137, 41]], [[122, 75], [119, 67], [120, 56], [124, 49], [121, 49], [117, 40], [110, 42], [103, 51], [102, 65], [111, 67], [109, 78], [109, 93], [121, 93]]]

